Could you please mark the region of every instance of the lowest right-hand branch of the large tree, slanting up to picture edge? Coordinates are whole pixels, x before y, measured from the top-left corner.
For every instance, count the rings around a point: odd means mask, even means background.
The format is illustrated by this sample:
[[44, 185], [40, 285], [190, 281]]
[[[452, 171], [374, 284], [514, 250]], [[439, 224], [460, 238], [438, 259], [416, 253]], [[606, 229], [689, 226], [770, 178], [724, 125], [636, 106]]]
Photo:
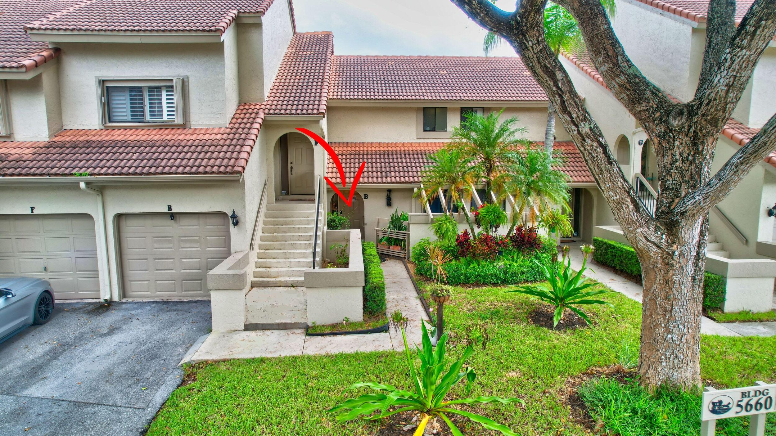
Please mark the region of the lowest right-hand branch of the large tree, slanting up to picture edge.
[[684, 196], [674, 207], [674, 215], [684, 213], [699, 216], [721, 202], [739, 184], [754, 165], [776, 148], [776, 115], [765, 123], [760, 132], [736, 151], [722, 168], [695, 192]]

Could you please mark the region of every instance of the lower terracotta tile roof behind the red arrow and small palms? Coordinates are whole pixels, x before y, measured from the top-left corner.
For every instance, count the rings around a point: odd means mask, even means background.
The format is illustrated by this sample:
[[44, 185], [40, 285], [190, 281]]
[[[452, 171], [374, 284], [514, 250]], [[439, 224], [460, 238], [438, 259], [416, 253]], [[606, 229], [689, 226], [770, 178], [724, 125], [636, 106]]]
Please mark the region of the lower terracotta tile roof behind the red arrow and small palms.
[[[536, 144], [542, 145], [539, 142]], [[444, 142], [330, 142], [337, 152], [345, 175], [352, 177], [366, 162], [359, 184], [420, 183], [421, 170], [428, 164], [428, 154], [445, 146]], [[593, 175], [572, 141], [556, 141], [555, 150], [563, 157], [557, 169], [570, 176], [572, 183], [594, 183]], [[327, 161], [326, 175], [339, 185], [339, 171]]]

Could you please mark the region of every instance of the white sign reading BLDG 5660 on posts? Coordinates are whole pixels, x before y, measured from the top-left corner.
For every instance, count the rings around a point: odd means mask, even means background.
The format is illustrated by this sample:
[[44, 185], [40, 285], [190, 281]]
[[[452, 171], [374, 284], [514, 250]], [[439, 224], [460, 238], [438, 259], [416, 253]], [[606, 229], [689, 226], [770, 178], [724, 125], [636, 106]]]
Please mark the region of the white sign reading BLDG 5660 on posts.
[[751, 416], [749, 436], [764, 436], [765, 415], [776, 412], [776, 384], [718, 390], [706, 387], [701, 408], [701, 436], [714, 436], [717, 420]]

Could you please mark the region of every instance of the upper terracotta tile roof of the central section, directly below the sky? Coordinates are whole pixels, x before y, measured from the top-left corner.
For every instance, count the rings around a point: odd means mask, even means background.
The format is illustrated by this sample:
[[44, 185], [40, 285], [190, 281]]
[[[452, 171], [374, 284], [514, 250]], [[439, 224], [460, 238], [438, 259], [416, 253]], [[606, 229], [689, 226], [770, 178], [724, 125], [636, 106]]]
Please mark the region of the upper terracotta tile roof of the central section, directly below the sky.
[[332, 100], [546, 101], [519, 57], [334, 56]]

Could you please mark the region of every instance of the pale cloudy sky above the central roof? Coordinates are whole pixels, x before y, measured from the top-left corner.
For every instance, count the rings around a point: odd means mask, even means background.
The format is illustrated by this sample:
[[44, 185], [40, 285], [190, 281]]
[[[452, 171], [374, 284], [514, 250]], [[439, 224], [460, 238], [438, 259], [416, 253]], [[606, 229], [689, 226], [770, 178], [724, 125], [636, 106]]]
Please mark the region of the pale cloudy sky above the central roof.
[[[500, 0], [514, 10], [514, 0]], [[293, 0], [296, 30], [334, 32], [334, 54], [483, 56], [485, 30], [450, 0]], [[508, 43], [491, 56], [516, 56]]]

